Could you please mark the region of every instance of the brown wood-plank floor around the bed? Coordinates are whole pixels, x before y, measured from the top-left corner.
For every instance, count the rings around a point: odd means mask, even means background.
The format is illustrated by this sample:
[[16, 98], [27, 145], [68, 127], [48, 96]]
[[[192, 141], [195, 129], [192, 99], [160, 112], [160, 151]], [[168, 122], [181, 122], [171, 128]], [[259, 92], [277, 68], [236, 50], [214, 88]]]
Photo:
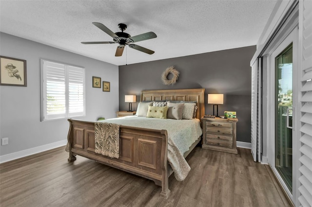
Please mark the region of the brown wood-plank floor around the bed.
[[284, 207], [289, 206], [269, 167], [250, 150], [238, 155], [196, 147], [183, 182], [169, 178], [170, 197], [153, 181], [80, 156], [64, 147], [0, 164], [1, 207]]

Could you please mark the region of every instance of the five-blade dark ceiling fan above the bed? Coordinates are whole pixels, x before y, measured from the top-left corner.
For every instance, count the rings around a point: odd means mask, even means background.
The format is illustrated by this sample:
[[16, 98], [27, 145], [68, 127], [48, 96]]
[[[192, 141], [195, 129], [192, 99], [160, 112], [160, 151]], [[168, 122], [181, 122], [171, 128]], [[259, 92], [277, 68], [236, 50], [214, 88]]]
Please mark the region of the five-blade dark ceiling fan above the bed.
[[136, 35], [132, 37], [131, 35], [123, 32], [124, 30], [127, 29], [127, 25], [123, 23], [118, 24], [118, 27], [121, 30], [121, 32], [117, 32], [117, 33], [113, 33], [110, 29], [108, 29], [106, 26], [104, 26], [101, 23], [92, 22], [92, 24], [94, 24], [100, 30], [102, 30], [103, 32], [113, 37], [114, 42], [81, 42], [82, 44], [115, 44], [115, 43], [118, 43], [119, 45], [117, 46], [115, 56], [121, 56], [123, 49], [125, 48], [126, 45], [128, 45], [132, 49], [136, 49], [138, 51], [145, 52], [147, 54], [154, 53], [154, 51], [151, 51], [147, 48], [143, 48], [141, 46], [132, 44], [134, 42], [139, 42], [139, 41], [157, 37], [157, 35], [153, 32], [148, 32], [148, 33], [144, 33], [144, 34]]

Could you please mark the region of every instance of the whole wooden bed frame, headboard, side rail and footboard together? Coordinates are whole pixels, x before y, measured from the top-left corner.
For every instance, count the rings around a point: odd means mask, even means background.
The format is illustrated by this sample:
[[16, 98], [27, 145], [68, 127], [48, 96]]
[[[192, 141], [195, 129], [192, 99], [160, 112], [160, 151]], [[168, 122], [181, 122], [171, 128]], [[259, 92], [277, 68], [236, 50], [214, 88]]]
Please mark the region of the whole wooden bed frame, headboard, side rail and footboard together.
[[[173, 89], [173, 90], [143, 90], [141, 101], [196, 101], [196, 118], [205, 113], [204, 88]], [[94, 121], [68, 119], [69, 158], [75, 161], [76, 155], [94, 159], [105, 165], [151, 179], [161, 186], [160, 196], [168, 198], [170, 190], [168, 177], [173, 172], [167, 160], [168, 135], [166, 130], [145, 129], [139, 127], [119, 127], [119, 158], [110, 158], [95, 153]], [[200, 141], [192, 145], [184, 154], [186, 157]]]

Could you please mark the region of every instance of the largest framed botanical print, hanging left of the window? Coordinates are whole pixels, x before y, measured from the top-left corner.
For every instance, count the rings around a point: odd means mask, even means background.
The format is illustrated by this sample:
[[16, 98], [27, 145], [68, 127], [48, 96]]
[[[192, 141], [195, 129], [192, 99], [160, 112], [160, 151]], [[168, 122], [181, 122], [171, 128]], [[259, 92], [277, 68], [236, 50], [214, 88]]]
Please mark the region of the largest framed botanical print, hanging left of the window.
[[27, 86], [26, 60], [0, 56], [0, 85]]

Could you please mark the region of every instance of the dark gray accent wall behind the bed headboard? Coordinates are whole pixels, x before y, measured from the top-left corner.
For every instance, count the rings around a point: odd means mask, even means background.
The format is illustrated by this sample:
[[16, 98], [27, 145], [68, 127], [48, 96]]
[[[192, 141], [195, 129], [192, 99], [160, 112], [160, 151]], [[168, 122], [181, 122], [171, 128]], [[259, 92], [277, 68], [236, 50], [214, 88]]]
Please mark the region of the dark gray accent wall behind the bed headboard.
[[[119, 66], [119, 110], [129, 108], [124, 102], [125, 95], [137, 95], [137, 103], [132, 105], [136, 110], [141, 90], [205, 88], [205, 114], [213, 114], [207, 94], [223, 93], [224, 104], [219, 105], [219, 115], [236, 111], [237, 141], [251, 142], [250, 60], [255, 51], [256, 46], [249, 46]], [[161, 74], [170, 66], [180, 72], [174, 86], [161, 82]]]

